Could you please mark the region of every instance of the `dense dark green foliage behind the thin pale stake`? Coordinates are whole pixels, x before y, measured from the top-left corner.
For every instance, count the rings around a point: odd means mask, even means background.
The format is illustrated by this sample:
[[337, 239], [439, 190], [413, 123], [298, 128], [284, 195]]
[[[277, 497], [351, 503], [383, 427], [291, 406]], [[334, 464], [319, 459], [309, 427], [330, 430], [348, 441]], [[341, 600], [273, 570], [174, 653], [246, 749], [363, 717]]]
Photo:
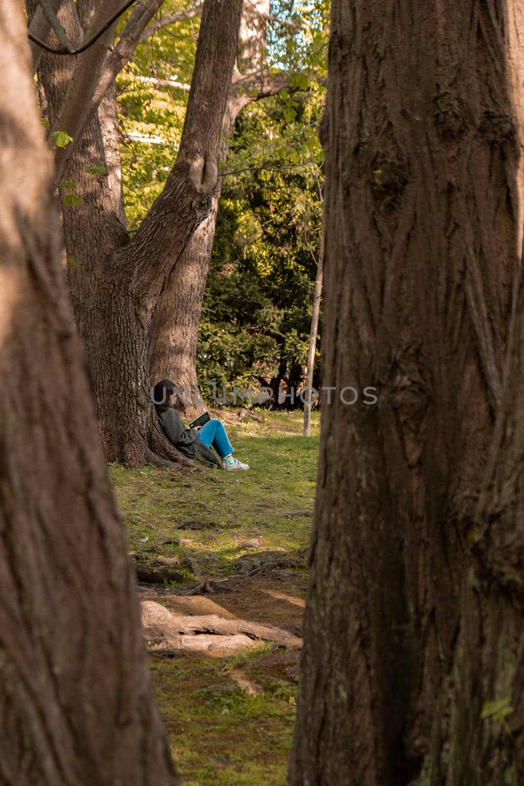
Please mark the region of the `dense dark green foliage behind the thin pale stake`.
[[197, 370], [228, 387], [278, 376], [299, 387], [306, 364], [321, 234], [321, 100], [292, 94], [300, 122], [288, 134], [289, 100], [267, 98], [239, 117], [225, 169]]

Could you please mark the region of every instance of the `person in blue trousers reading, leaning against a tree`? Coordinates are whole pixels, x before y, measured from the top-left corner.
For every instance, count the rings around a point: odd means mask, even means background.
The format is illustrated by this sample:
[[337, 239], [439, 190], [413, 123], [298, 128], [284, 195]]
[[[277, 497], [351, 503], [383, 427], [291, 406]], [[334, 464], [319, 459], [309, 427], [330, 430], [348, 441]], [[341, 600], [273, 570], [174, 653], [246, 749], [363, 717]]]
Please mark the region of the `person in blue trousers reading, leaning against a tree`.
[[[185, 428], [180, 415], [174, 409], [174, 399], [177, 394], [178, 388], [170, 380], [161, 380], [153, 388], [156, 414], [170, 443], [185, 456], [200, 458], [200, 461], [205, 461], [207, 465], [220, 466], [227, 472], [249, 469], [247, 464], [242, 464], [241, 461], [233, 458], [233, 446], [221, 421], [212, 418], [203, 426]], [[210, 446], [214, 447], [222, 461], [218, 461]]]

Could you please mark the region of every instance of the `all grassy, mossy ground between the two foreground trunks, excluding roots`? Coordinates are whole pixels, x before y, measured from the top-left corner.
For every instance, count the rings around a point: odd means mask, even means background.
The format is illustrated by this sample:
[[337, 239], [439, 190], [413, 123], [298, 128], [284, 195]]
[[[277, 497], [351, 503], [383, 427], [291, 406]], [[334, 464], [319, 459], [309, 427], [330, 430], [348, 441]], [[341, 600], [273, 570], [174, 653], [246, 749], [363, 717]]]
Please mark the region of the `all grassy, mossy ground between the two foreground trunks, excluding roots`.
[[[227, 415], [225, 416], [227, 417]], [[130, 550], [176, 560], [183, 582], [234, 575], [239, 557], [306, 548], [311, 527], [319, 421], [302, 436], [302, 413], [266, 413], [227, 424], [248, 472], [109, 468]], [[257, 538], [258, 546], [246, 541]], [[299, 623], [305, 571], [246, 579], [241, 593], [180, 598], [142, 588], [182, 613]], [[184, 604], [193, 604], [191, 608]], [[188, 610], [189, 609], [189, 610]], [[298, 652], [269, 645], [235, 656], [151, 655], [152, 677], [185, 786], [284, 786], [295, 715]]]

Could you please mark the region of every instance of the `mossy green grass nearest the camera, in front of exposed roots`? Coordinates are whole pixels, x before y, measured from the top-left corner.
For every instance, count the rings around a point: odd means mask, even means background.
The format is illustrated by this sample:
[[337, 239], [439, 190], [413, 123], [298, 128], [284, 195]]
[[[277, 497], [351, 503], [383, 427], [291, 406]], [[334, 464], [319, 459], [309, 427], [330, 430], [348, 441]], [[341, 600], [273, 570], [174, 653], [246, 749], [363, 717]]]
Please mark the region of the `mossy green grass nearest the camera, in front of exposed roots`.
[[[234, 659], [153, 658], [152, 674], [172, 751], [185, 786], [283, 786], [295, 719], [296, 682], [270, 678], [256, 669], [267, 648], [251, 651], [248, 674]], [[256, 685], [250, 695], [245, 684]]]

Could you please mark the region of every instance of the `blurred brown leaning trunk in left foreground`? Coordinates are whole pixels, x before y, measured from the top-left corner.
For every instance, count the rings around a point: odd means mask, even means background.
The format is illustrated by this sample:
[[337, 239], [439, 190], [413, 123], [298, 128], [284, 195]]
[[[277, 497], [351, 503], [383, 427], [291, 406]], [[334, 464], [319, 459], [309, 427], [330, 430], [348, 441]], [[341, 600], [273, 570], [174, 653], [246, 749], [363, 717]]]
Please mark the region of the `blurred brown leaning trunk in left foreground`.
[[20, 3], [3, 0], [0, 781], [174, 786], [58, 261], [26, 35]]

